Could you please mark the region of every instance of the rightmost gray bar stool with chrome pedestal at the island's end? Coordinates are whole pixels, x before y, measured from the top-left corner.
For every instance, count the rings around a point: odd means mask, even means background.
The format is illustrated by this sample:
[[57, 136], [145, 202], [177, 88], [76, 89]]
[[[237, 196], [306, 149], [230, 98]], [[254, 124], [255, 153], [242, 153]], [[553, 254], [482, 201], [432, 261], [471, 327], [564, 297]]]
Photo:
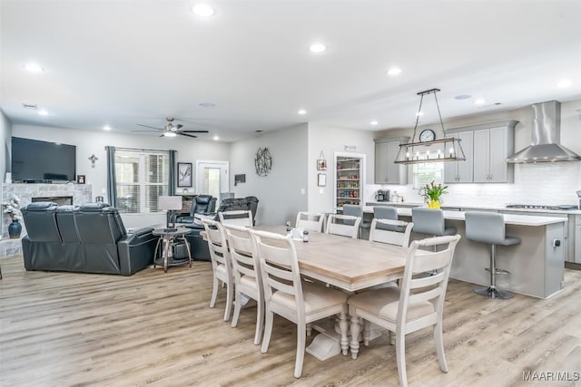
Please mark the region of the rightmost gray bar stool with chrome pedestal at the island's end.
[[505, 219], [494, 212], [467, 212], [466, 237], [468, 240], [490, 244], [490, 285], [474, 289], [474, 293], [489, 298], [512, 298], [512, 293], [497, 288], [497, 274], [508, 274], [507, 270], [497, 269], [496, 246], [511, 246], [520, 243], [519, 237], [505, 235]]

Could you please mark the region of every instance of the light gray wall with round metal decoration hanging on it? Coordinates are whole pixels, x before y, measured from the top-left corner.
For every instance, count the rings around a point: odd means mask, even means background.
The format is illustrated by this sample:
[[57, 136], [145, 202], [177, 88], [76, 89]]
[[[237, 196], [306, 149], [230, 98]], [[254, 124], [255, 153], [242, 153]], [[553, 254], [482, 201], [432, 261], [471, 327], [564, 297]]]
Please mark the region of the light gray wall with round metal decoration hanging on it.
[[[257, 225], [281, 225], [287, 220], [294, 224], [297, 212], [307, 209], [307, 131], [307, 124], [300, 124], [231, 144], [231, 191], [236, 198], [259, 198]], [[264, 147], [271, 152], [272, 169], [260, 177], [254, 169], [254, 156]], [[246, 174], [246, 182], [234, 186], [236, 174]]]

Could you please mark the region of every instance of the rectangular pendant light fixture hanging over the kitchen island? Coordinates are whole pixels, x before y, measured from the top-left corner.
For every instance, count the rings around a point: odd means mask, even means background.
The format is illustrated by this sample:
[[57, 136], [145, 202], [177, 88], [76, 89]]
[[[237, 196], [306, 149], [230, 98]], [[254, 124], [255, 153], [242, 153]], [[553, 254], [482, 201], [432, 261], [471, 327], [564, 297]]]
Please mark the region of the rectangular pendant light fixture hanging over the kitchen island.
[[[439, 111], [438, 97], [436, 93], [439, 89], [430, 89], [425, 92], [419, 92], [419, 109], [416, 117], [416, 126], [414, 127], [414, 135], [411, 141], [406, 144], [399, 145], [399, 152], [396, 164], [419, 164], [426, 162], [440, 162], [440, 161], [462, 161], [466, 160], [460, 139], [448, 137], [444, 129], [444, 122]], [[421, 106], [424, 102], [424, 95], [434, 94], [436, 100], [436, 107], [438, 108], [439, 125], [442, 131], [442, 137], [438, 138], [435, 131], [427, 129], [417, 133], [419, 116], [421, 115]]]

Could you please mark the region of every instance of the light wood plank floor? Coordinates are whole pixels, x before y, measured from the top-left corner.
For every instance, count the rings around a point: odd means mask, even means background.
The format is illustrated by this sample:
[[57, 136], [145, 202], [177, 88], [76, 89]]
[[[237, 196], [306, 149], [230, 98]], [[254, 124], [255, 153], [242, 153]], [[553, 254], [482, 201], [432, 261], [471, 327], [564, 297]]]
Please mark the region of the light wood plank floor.
[[[134, 276], [26, 272], [0, 259], [0, 385], [6, 386], [390, 386], [398, 385], [387, 334], [357, 360], [305, 355], [292, 377], [295, 325], [277, 317], [269, 353], [252, 343], [255, 309], [238, 328], [222, 320], [224, 291], [208, 306], [206, 262]], [[581, 371], [581, 272], [549, 300], [487, 300], [452, 281], [444, 309], [449, 372], [439, 371], [431, 331], [407, 339], [410, 385], [581, 385], [523, 382], [523, 372]], [[310, 338], [308, 342], [310, 342]]]

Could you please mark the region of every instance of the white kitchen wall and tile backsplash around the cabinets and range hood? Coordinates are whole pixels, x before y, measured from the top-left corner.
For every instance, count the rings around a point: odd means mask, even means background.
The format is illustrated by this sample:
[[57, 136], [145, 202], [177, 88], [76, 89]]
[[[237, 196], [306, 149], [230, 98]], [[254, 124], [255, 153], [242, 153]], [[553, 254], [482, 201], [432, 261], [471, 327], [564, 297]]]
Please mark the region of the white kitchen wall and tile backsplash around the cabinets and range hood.
[[[561, 144], [569, 150], [581, 155], [581, 100], [561, 103]], [[515, 129], [515, 151], [530, 145], [532, 133], [532, 108], [514, 111], [499, 111], [478, 116], [464, 117], [457, 120], [444, 121], [446, 129], [495, 121], [517, 120]], [[435, 125], [423, 126], [435, 127]], [[379, 131], [374, 138], [411, 136], [413, 128], [398, 131]], [[421, 202], [418, 191], [414, 190], [411, 176], [412, 166], [409, 166], [409, 182], [407, 186], [371, 185], [368, 199], [377, 189], [397, 190], [406, 201]], [[370, 180], [372, 181], [372, 180]], [[514, 184], [451, 184], [444, 203], [448, 206], [504, 206], [507, 203], [527, 204], [578, 204], [576, 190], [581, 189], [581, 161], [549, 162], [537, 164], [516, 164]]]

